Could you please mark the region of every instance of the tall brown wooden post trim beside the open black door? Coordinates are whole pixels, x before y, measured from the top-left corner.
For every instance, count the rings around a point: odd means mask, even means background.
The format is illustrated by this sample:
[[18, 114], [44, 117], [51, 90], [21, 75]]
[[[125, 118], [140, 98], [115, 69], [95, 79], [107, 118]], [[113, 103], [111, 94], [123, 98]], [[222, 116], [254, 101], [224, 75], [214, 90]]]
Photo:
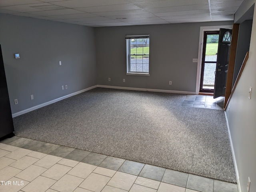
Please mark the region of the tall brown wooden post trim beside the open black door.
[[229, 55], [229, 62], [228, 62], [228, 75], [227, 75], [226, 90], [225, 90], [224, 108], [226, 108], [228, 99], [230, 98], [231, 91], [232, 91], [232, 82], [233, 82], [234, 67], [235, 67], [235, 60], [236, 60], [236, 48], [237, 48], [238, 34], [239, 34], [239, 24], [233, 24], [232, 40], [231, 40], [230, 55]]

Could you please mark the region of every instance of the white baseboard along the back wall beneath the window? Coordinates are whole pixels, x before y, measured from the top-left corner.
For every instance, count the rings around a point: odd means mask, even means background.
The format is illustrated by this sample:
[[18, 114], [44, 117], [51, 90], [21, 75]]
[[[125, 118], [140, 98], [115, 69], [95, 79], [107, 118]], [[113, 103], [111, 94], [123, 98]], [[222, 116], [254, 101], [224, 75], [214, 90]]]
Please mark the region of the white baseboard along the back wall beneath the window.
[[135, 91], [150, 91], [150, 92], [179, 93], [179, 94], [196, 94], [196, 92], [188, 92], [188, 91], [146, 89], [146, 88], [133, 88], [133, 87], [118, 87], [118, 86], [108, 86], [108, 85], [98, 85], [98, 87], [110, 88], [110, 89], [135, 90]]

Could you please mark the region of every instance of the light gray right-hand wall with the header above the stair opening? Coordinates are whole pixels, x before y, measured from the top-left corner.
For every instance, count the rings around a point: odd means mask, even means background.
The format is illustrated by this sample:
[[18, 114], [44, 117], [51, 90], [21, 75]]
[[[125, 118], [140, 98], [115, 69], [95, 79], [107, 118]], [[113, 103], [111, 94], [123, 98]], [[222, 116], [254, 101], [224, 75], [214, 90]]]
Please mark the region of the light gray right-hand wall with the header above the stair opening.
[[[244, 0], [235, 15], [239, 21], [256, 0]], [[244, 20], [244, 18], [243, 18]], [[250, 192], [256, 191], [256, 9], [252, 23], [252, 34], [248, 62], [230, 100], [226, 114], [238, 166], [242, 192], [247, 192], [250, 177]], [[248, 91], [252, 87], [251, 99]]]

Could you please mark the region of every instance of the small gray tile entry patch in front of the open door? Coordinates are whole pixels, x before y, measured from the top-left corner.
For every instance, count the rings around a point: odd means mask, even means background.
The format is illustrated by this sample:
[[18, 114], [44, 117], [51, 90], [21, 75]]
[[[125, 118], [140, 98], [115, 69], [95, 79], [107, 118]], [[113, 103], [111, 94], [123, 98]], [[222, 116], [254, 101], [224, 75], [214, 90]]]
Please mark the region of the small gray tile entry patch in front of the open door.
[[214, 99], [209, 95], [187, 95], [182, 106], [223, 110], [224, 97]]

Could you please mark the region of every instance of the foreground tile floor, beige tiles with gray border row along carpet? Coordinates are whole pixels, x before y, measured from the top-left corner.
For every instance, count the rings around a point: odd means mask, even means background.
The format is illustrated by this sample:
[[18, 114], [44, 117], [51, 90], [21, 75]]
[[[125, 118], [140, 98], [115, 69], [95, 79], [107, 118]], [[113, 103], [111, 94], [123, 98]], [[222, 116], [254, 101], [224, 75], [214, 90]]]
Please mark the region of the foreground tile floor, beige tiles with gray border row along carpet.
[[238, 192], [237, 185], [14, 136], [0, 142], [0, 192]]

